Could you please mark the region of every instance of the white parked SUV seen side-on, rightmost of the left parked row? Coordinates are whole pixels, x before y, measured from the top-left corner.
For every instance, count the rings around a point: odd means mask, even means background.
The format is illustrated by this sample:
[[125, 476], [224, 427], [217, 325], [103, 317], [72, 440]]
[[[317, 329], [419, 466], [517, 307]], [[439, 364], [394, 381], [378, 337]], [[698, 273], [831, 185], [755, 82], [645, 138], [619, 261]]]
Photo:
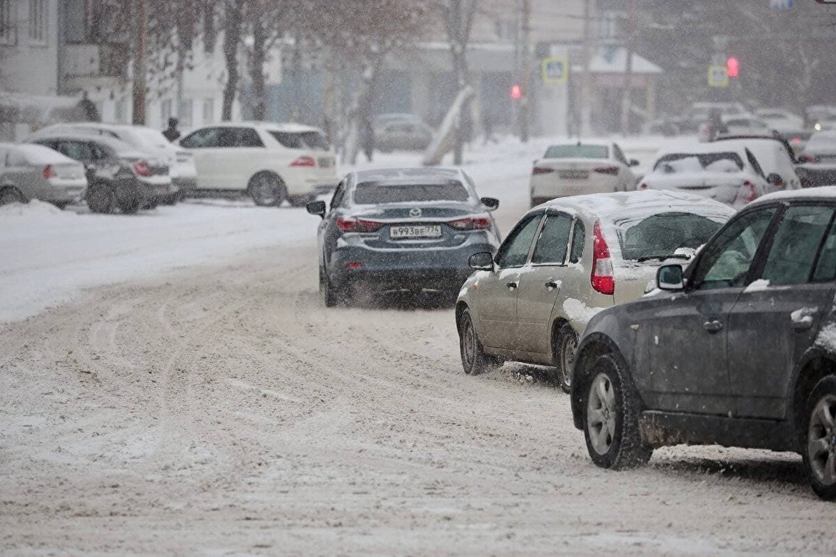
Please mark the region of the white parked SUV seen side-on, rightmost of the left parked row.
[[180, 139], [197, 166], [197, 193], [250, 195], [257, 205], [303, 206], [337, 185], [334, 151], [318, 128], [224, 123]]

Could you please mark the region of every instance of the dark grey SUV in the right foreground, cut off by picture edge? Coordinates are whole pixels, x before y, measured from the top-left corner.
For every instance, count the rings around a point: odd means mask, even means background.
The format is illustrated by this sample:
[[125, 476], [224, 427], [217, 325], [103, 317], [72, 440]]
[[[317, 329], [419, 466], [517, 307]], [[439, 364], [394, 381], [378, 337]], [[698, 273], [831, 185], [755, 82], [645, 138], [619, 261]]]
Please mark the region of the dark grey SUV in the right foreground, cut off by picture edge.
[[603, 468], [655, 447], [794, 451], [836, 499], [836, 188], [762, 197], [658, 290], [600, 312], [573, 365], [572, 413]]

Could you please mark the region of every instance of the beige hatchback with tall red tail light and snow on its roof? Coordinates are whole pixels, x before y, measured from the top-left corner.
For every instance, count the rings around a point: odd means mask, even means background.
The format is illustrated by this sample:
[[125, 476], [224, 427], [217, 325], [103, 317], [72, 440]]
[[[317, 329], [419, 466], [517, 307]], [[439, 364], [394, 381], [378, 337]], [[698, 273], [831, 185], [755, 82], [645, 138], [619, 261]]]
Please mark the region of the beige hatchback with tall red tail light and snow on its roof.
[[456, 301], [466, 373], [505, 360], [557, 368], [564, 390], [598, 311], [645, 294], [661, 261], [688, 261], [734, 210], [705, 197], [633, 191], [563, 197], [528, 211]]

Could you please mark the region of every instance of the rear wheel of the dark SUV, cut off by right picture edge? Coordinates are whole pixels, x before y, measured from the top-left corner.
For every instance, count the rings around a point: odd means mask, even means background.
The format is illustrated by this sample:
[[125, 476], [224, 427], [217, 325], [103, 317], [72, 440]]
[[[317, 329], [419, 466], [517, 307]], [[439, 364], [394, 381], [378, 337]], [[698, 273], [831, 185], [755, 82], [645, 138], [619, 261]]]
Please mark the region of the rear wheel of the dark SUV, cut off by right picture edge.
[[816, 494], [836, 499], [836, 376], [818, 382], [807, 402], [804, 471]]

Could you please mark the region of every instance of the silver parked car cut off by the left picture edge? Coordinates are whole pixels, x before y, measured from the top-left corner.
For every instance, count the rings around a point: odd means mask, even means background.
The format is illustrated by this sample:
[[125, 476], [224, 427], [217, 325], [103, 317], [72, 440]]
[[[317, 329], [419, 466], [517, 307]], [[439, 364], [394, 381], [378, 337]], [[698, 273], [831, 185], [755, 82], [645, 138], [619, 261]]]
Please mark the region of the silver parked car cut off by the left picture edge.
[[0, 205], [42, 200], [64, 209], [86, 190], [84, 165], [41, 145], [0, 144]]

